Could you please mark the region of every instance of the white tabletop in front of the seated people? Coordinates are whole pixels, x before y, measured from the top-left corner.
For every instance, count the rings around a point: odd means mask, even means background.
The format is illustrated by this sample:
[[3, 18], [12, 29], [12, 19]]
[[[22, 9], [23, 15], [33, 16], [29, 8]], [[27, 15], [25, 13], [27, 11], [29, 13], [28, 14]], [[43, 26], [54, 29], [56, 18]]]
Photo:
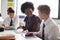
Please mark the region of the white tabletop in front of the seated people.
[[0, 37], [4, 36], [5, 34], [14, 34], [15, 40], [41, 40], [40, 38], [34, 37], [25, 37], [25, 33], [16, 33], [13, 30], [5, 30], [4, 32], [0, 32]]

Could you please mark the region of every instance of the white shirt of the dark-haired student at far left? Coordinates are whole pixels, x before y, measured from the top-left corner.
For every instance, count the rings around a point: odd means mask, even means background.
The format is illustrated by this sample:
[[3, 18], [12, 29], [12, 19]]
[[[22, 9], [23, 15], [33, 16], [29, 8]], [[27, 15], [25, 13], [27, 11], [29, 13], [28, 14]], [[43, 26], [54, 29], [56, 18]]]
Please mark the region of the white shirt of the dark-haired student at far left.
[[19, 17], [17, 15], [15, 15], [13, 18], [12, 18], [12, 21], [13, 21], [13, 26], [10, 26], [10, 22], [11, 22], [11, 18], [10, 17], [7, 17], [3, 24], [7, 27], [11, 27], [11, 28], [14, 28], [16, 29], [18, 26], [19, 26]]

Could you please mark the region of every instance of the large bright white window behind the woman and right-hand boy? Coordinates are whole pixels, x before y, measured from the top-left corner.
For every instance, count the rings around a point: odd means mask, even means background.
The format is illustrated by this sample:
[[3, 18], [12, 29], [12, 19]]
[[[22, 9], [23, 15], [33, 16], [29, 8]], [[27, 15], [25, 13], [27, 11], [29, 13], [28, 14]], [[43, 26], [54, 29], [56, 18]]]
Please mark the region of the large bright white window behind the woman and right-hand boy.
[[59, 0], [16, 0], [16, 10], [17, 10], [17, 15], [23, 15], [23, 13], [21, 12], [21, 4], [23, 4], [24, 2], [32, 2], [34, 4], [35, 10], [34, 13], [35, 15], [38, 16], [38, 11], [37, 11], [37, 7], [39, 5], [49, 5], [51, 8], [51, 14], [50, 17], [51, 18], [58, 18], [58, 1]]

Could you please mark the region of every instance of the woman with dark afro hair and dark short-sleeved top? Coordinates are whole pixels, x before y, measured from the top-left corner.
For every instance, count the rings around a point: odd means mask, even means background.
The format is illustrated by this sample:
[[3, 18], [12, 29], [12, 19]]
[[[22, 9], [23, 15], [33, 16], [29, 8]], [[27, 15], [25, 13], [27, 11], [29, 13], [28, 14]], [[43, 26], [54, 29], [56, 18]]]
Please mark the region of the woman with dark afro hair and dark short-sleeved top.
[[[21, 5], [21, 11], [26, 14], [26, 18], [24, 19], [24, 22], [26, 23], [25, 29], [27, 29], [29, 32], [37, 32], [40, 28], [40, 22], [41, 20], [39, 17], [35, 16], [33, 14], [34, 6], [31, 2], [25, 2]], [[21, 27], [21, 26], [20, 26]]]

